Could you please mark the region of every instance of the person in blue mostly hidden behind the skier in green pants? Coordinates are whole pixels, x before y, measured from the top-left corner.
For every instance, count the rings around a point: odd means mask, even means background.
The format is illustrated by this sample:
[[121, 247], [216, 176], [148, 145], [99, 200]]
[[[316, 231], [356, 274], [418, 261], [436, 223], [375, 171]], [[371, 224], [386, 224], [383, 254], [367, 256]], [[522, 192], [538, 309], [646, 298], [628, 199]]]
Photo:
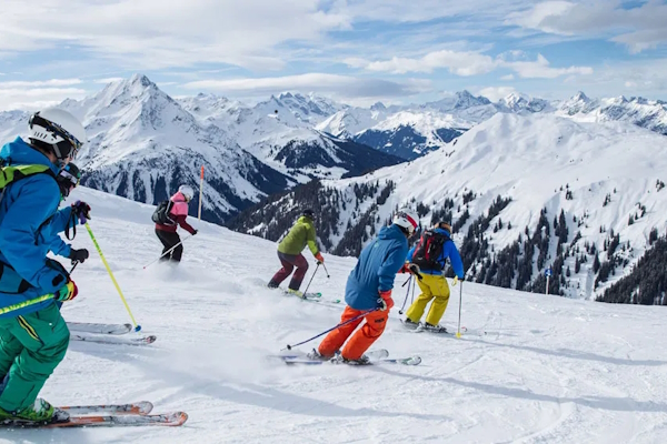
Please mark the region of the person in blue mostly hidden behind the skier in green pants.
[[[81, 172], [73, 163], [68, 163], [64, 165], [58, 175], [56, 176], [56, 181], [60, 186], [60, 195], [61, 200], [66, 200], [69, 194], [72, 192], [74, 188], [79, 184], [81, 179]], [[51, 250], [54, 254], [58, 254], [63, 258], [68, 258], [74, 262], [83, 263], [88, 258], [89, 253], [87, 249], [74, 250], [71, 245], [67, 244], [62, 238], [58, 234], [59, 229], [64, 226], [66, 236], [68, 240], [73, 240], [77, 233], [76, 224], [78, 222], [78, 218], [76, 218], [76, 212], [72, 211], [73, 206], [64, 208], [58, 211], [53, 218], [51, 218], [50, 225], [52, 226], [51, 235], [52, 241], [49, 250]], [[70, 238], [70, 229], [72, 230], [72, 236]]]

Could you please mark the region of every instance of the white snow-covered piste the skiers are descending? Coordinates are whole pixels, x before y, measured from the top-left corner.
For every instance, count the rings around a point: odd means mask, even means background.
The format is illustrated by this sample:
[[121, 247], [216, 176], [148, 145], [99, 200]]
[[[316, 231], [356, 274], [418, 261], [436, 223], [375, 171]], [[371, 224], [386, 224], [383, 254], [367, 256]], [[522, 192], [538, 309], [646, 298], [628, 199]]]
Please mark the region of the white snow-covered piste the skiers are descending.
[[[399, 275], [397, 307], [375, 347], [390, 357], [419, 354], [421, 365], [288, 367], [266, 356], [335, 325], [344, 305], [263, 287], [279, 264], [275, 244], [195, 220], [200, 234], [185, 242], [178, 269], [142, 270], [161, 250], [151, 208], [86, 189], [77, 199], [91, 203], [104, 256], [142, 333], [158, 341], [72, 342], [42, 395], [60, 405], [148, 400], [155, 413], [182, 410], [190, 418], [177, 428], [3, 430], [0, 443], [667, 442], [659, 306], [465, 283], [470, 332], [457, 340], [401, 326], [407, 276]], [[74, 245], [91, 259], [73, 273], [80, 295], [66, 303], [66, 320], [129, 322], [84, 229]], [[356, 260], [326, 259], [331, 278], [319, 271], [310, 290], [342, 297]], [[456, 329], [459, 286], [451, 293], [444, 323]]]

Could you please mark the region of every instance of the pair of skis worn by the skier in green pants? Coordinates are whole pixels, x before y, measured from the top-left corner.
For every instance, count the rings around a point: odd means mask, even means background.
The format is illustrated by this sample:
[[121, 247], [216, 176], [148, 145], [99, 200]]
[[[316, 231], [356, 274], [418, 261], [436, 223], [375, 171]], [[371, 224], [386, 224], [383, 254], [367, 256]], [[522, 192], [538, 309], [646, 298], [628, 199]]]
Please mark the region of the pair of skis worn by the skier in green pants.
[[127, 427], [127, 426], [180, 426], [188, 421], [185, 412], [151, 415], [152, 403], [141, 401], [131, 404], [99, 404], [57, 407], [70, 414], [69, 421], [36, 423], [21, 420], [0, 421], [2, 428], [62, 428], [62, 427]]

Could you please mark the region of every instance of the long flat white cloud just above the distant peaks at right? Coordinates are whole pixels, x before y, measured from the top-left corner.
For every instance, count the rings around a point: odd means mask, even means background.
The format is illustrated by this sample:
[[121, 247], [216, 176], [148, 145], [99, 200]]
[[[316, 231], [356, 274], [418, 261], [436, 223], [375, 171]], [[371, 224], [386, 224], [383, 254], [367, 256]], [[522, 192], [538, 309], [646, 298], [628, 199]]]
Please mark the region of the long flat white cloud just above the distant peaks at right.
[[[517, 58], [515, 53], [512, 58]], [[354, 68], [364, 68], [369, 71], [385, 71], [395, 74], [407, 72], [432, 72], [438, 68], [448, 69], [457, 75], [478, 75], [491, 72], [498, 68], [509, 68], [520, 78], [525, 79], [555, 79], [567, 74], [591, 74], [590, 67], [554, 68], [549, 61], [538, 54], [535, 61], [507, 61], [501, 54], [496, 59], [478, 52], [436, 51], [419, 59], [392, 58], [385, 61], [367, 61], [362, 59], [348, 59], [346, 63]]]

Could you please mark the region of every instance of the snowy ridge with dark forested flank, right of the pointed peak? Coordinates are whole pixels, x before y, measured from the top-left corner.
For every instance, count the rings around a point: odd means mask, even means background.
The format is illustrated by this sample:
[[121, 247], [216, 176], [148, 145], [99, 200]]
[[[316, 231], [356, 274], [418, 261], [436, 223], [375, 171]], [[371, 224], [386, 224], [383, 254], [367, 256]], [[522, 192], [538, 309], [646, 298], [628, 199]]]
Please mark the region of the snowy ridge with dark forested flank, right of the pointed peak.
[[251, 108], [206, 94], [180, 103], [202, 124], [223, 129], [247, 151], [298, 182], [359, 175], [402, 161], [315, 129], [328, 113], [344, 108], [315, 94], [283, 93]]

